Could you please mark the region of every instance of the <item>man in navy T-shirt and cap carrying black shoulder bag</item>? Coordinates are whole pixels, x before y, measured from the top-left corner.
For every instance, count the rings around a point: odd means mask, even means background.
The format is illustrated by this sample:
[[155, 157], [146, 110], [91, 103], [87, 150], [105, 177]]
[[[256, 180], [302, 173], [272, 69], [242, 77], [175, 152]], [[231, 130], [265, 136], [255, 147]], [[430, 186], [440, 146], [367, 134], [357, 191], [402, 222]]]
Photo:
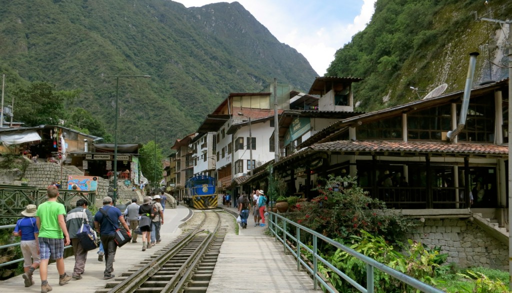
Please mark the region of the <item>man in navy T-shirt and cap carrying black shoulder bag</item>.
[[126, 229], [126, 232], [131, 235], [130, 228], [126, 225], [124, 217], [119, 211], [119, 208], [113, 206], [112, 198], [105, 196], [103, 198], [103, 206], [94, 215], [94, 226], [101, 234], [101, 242], [105, 249], [105, 270], [103, 271], [103, 278], [112, 279], [115, 277], [112, 272], [114, 271], [114, 259], [116, 257], [117, 244], [114, 241], [115, 233], [118, 228], [115, 224], [121, 222], [121, 225]]

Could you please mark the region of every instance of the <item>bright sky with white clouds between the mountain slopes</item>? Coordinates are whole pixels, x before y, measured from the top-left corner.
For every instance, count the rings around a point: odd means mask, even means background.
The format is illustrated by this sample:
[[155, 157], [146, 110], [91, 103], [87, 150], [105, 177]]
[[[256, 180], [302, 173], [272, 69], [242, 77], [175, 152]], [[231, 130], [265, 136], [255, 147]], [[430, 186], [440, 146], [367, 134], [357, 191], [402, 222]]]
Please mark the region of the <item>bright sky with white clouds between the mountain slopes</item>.
[[[174, 0], [185, 7], [233, 1]], [[302, 53], [323, 76], [334, 53], [365, 28], [376, 0], [238, 0], [281, 43]]]

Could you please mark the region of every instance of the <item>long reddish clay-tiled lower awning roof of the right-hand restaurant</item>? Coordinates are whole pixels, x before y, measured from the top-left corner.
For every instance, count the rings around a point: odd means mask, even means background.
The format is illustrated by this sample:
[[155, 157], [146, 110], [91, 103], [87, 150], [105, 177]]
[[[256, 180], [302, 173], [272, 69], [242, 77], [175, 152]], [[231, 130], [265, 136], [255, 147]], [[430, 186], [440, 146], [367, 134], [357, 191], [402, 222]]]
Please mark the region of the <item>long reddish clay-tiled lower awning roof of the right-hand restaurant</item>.
[[397, 152], [440, 155], [508, 156], [508, 147], [499, 144], [451, 143], [444, 141], [338, 140], [311, 145], [313, 151]]

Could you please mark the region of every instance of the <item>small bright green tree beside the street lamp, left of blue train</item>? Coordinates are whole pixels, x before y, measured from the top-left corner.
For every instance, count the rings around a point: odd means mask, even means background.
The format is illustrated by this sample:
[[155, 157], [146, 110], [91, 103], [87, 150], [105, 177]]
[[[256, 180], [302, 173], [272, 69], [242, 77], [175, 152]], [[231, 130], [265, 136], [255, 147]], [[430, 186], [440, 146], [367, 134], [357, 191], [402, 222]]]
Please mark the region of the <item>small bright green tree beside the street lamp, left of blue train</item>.
[[[156, 160], [155, 160], [155, 150], [156, 150]], [[155, 141], [148, 141], [146, 144], [142, 146], [142, 149], [139, 150], [140, 155], [140, 170], [144, 177], [147, 178], [150, 182], [154, 184], [154, 186], [158, 186], [160, 181], [162, 181], [162, 149], [159, 145], [155, 145]], [[156, 171], [156, 172], [155, 172]]]

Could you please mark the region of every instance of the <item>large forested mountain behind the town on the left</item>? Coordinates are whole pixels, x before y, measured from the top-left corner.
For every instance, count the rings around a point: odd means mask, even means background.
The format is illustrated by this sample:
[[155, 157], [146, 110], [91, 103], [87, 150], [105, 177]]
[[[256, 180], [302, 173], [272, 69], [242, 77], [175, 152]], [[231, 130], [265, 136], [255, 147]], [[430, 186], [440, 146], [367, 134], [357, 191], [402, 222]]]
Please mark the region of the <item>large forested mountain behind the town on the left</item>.
[[[307, 91], [317, 76], [238, 2], [185, 8], [166, 0], [28, 0], [0, 6], [0, 73], [6, 100], [47, 81], [81, 89], [83, 108], [119, 142], [169, 145], [194, 132], [231, 92], [258, 92], [273, 78]], [[15, 101], [14, 114], [16, 114]]]

